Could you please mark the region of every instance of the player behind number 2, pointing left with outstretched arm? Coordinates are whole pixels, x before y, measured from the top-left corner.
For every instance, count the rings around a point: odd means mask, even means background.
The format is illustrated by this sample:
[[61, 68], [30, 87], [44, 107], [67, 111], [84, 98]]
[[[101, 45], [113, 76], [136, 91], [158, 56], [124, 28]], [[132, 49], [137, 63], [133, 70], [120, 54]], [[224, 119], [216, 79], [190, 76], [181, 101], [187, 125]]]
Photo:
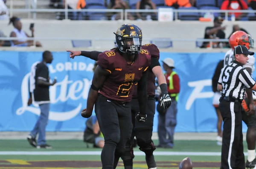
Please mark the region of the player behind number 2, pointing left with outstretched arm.
[[[154, 44], [146, 44], [142, 46], [142, 49], [147, 49], [151, 54], [151, 65], [148, 68], [148, 79], [147, 79], [147, 87], [148, 87], [148, 108], [147, 108], [147, 121], [145, 123], [140, 124], [135, 121], [135, 115], [139, 113], [139, 104], [137, 100], [137, 92], [133, 93], [132, 96], [132, 105], [131, 105], [131, 115], [133, 120], [133, 132], [131, 137], [131, 142], [126, 145], [127, 149], [131, 147], [131, 152], [127, 151], [125, 155], [122, 156], [124, 161], [125, 169], [130, 169], [132, 166], [132, 159], [134, 158], [132, 151], [132, 142], [134, 141], [134, 135], [137, 138], [138, 145], [140, 146], [140, 150], [145, 152], [146, 162], [148, 165], [148, 169], [156, 168], [156, 163], [154, 160], [153, 151], [155, 150], [155, 146], [153, 141], [151, 140], [152, 131], [153, 131], [153, 121], [155, 114], [155, 77], [157, 76], [158, 82], [160, 84], [162, 93], [164, 96], [162, 98], [162, 105], [165, 108], [168, 108], [171, 105], [171, 99], [169, 99], [169, 95], [167, 92], [166, 78], [163, 75], [162, 68], [159, 63], [159, 49]], [[74, 58], [75, 56], [85, 56], [95, 61], [98, 60], [100, 51], [71, 51], [70, 58]]]

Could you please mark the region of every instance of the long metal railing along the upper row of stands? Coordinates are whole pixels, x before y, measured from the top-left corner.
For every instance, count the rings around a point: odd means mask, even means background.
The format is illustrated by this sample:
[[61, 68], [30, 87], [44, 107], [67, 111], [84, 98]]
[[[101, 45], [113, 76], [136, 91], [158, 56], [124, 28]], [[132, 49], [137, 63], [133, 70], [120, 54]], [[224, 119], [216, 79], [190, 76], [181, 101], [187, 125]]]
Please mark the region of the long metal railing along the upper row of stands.
[[[149, 9], [81, 9], [81, 10], [74, 10], [74, 9], [38, 9], [38, 8], [9, 8], [10, 17], [17, 15], [17, 13], [27, 14], [27, 19], [38, 19], [38, 13], [57, 13], [62, 12], [64, 13], [64, 19], [68, 19], [68, 12], [87, 12], [90, 13], [120, 13], [121, 20], [127, 20], [128, 13], [135, 14], [139, 13], [157, 13], [159, 14], [160, 11], [167, 11], [173, 14], [173, 20], [190, 20], [187, 19], [189, 17], [193, 17], [192, 20], [198, 20], [200, 17], [204, 17], [205, 14], [212, 14], [213, 16], [222, 16], [224, 20], [230, 20], [229, 13], [247, 13], [246, 17], [256, 17], [255, 13], [256, 10], [215, 10], [215, 9], [172, 9], [172, 8], [159, 8], [154, 10]], [[184, 15], [182, 15], [184, 14]], [[124, 18], [124, 19], [123, 19]], [[24, 18], [26, 19], [26, 18]], [[135, 17], [136, 19], [136, 17]]]

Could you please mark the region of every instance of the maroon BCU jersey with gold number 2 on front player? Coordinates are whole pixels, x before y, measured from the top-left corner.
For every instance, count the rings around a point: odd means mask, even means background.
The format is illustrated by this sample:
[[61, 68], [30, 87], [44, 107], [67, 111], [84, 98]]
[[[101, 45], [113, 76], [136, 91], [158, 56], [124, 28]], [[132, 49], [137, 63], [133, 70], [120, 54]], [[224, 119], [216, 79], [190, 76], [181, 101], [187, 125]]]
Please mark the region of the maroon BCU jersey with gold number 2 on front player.
[[141, 50], [135, 57], [135, 61], [128, 64], [118, 51], [99, 54], [98, 65], [111, 73], [99, 93], [108, 99], [131, 101], [134, 86], [151, 64], [151, 54], [147, 50]]

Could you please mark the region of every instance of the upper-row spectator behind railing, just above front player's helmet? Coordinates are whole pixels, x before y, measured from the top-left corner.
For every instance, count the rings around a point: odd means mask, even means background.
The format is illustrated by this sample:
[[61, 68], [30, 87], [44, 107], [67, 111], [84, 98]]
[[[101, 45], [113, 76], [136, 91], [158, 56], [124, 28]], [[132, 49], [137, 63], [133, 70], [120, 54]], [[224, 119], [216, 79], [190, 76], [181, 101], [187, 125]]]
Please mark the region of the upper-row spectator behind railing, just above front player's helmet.
[[[125, 2], [123, 0], [111, 0], [110, 3], [108, 4], [108, 8], [125, 10], [125, 9], [129, 9], [129, 5], [128, 5], [127, 1]], [[120, 13], [112, 13], [111, 15], [112, 15], [111, 20], [120, 20], [121, 19]], [[134, 20], [134, 17], [132, 16], [131, 13], [127, 13], [127, 19]]]

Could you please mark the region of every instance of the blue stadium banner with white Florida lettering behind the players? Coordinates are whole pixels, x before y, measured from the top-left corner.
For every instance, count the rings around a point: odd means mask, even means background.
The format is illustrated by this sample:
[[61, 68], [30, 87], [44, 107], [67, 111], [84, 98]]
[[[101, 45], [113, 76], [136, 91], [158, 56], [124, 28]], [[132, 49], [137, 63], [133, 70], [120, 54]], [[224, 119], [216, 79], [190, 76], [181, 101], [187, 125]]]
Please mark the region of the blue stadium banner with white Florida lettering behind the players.
[[[0, 131], [30, 131], [40, 109], [37, 104], [27, 106], [29, 71], [42, 60], [42, 52], [0, 51], [0, 55]], [[86, 119], [80, 112], [86, 108], [94, 61], [83, 56], [70, 59], [68, 52], [53, 52], [53, 57], [48, 67], [50, 79], [57, 77], [57, 83], [50, 87], [47, 131], [84, 131]], [[180, 76], [176, 132], [216, 132], [211, 79], [224, 53], [160, 53], [160, 62], [166, 57], [174, 59]], [[156, 111], [154, 132], [157, 116]]]

